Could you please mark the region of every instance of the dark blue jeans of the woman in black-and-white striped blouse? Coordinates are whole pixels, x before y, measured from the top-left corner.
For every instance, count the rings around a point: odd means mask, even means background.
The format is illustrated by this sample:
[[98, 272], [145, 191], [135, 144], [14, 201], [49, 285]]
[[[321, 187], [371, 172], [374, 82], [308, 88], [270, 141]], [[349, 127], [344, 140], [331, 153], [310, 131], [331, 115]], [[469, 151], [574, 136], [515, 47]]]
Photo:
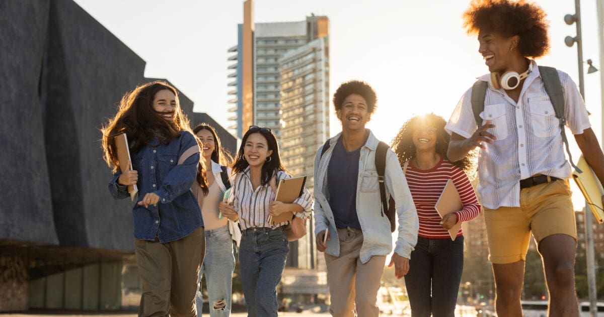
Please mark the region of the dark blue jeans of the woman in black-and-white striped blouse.
[[277, 316], [277, 284], [288, 252], [283, 227], [254, 227], [242, 232], [239, 263], [248, 317]]

